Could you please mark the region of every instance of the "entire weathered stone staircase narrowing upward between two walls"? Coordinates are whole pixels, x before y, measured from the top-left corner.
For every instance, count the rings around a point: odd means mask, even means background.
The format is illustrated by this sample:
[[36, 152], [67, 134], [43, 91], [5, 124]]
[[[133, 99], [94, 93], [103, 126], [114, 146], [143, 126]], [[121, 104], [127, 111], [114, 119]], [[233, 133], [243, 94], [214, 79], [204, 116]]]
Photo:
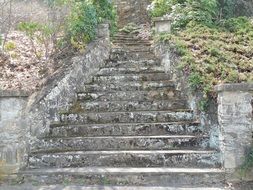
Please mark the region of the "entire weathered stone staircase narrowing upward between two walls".
[[151, 42], [118, 34], [110, 60], [77, 93], [50, 133], [32, 143], [22, 172], [37, 184], [221, 187], [220, 154], [209, 147], [187, 97]]

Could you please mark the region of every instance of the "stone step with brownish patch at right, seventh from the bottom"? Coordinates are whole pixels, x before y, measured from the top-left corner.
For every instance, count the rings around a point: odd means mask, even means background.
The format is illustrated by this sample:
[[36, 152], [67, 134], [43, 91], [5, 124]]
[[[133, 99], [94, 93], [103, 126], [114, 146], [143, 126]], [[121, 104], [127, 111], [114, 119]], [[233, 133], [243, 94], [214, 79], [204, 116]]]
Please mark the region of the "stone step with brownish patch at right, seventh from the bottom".
[[181, 92], [170, 89], [150, 91], [101, 91], [94, 93], [79, 92], [77, 98], [80, 101], [153, 101], [153, 100], [174, 100], [181, 97]]

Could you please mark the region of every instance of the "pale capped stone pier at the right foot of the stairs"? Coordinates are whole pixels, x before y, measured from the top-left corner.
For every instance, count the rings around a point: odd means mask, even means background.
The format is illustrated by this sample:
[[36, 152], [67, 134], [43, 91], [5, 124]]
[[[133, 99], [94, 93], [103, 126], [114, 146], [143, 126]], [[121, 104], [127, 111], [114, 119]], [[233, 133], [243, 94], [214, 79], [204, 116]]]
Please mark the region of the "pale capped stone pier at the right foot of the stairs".
[[215, 89], [218, 92], [224, 167], [227, 171], [235, 171], [244, 162], [253, 143], [253, 84], [225, 84]]

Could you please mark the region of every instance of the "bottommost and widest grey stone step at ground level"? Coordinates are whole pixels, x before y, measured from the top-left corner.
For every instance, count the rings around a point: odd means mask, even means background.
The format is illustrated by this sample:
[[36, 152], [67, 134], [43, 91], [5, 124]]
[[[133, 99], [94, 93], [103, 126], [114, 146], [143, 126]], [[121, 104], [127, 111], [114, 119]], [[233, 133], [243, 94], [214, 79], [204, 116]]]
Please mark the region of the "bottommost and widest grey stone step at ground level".
[[[197, 168], [57, 168], [20, 172], [29, 183], [83, 184], [164, 187], [221, 187], [225, 183], [221, 169]], [[204, 189], [203, 189], [204, 190]]]

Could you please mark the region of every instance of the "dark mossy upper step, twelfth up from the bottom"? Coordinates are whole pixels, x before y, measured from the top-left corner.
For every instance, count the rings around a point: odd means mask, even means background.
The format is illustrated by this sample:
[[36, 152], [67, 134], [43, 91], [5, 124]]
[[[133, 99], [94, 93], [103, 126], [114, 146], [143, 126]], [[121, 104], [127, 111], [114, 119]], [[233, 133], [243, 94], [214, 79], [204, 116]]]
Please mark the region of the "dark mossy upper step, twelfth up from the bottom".
[[151, 51], [139, 50], [131, 51], [122, 48], [114, 48], [110, 53], [111, 61], [132, 61], [132, 60], [147, 60], [147, 59], [156, 59], [155, 55]]

